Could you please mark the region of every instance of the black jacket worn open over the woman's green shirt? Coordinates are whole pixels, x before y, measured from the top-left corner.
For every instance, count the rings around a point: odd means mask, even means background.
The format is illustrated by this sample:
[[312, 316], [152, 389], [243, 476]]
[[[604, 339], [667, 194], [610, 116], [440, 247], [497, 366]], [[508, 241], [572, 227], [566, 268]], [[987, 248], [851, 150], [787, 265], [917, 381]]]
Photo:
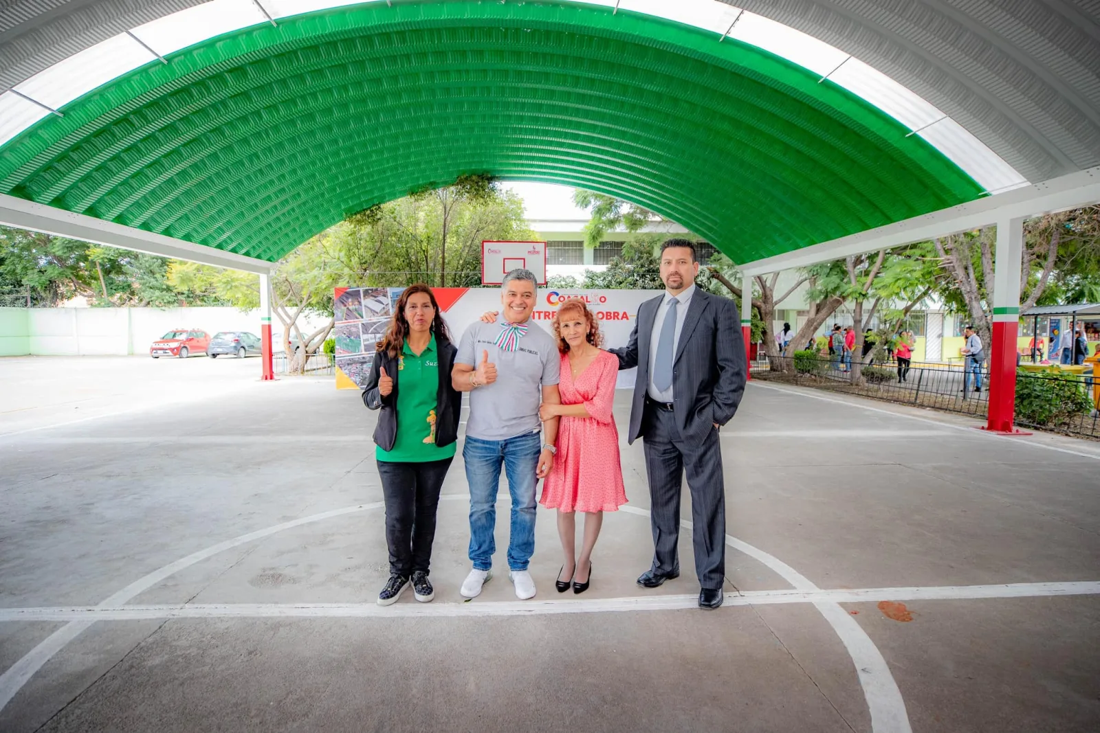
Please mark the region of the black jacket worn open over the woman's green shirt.
[[[436, 392], [436, 445], [450, 445], [459, 440], [459, 412], [462, 410], [462, 392], [451, 386], [451, 369], [458, 349], [440, 334], [436, 334], [436, 351], [439, 354], [439, 389]], [[388, 396], [378, 395], [378, 370], [385, 367], [394, 380], [394, 391]], [[400, 371], [397, 359], [386, 352], [376, 352], [371, 374], [363, 387], [363, 404], [371, 410], [382, 408], [378, 424], [374, 427], [374, 442], [383, 451], [393, 451], [397, 438], [397, 390], [400, 388]]]

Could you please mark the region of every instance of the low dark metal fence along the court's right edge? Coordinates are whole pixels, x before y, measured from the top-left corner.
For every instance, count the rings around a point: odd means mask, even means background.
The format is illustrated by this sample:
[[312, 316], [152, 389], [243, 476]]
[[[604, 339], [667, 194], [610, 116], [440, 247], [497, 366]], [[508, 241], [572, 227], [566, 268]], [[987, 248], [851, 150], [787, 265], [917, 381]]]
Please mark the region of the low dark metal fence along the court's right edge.
[[[862, 379], [855, 385], [846, 369], [839, 358], [773, 356], [768, 359], [767, 370], [754, 371], [754, 376], [980, 418], [989, 412], [986, 365], [967, 370], [957, 364], [865, 363]], [[1018, 371], [1016, 423], [1100, 437], [1100, 403], [1093, 395], [1090, 375]]]

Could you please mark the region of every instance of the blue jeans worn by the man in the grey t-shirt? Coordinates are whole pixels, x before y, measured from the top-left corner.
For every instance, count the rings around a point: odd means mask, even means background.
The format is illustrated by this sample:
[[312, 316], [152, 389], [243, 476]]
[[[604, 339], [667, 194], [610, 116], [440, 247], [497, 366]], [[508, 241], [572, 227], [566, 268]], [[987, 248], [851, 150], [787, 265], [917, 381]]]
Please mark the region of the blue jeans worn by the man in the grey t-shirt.
[[470, 484], [470, 559], [479, 570], [493, 567], [496, 552], [496, 495], [501, 466], [508, 477], [512, 495], [512, 538], [508, 568], [526, 570], [535, 554], [535, 471], [542, 452], [542, 434], [525, 433], [506, 441], [483, 441], [466, 436], [462, 459]]

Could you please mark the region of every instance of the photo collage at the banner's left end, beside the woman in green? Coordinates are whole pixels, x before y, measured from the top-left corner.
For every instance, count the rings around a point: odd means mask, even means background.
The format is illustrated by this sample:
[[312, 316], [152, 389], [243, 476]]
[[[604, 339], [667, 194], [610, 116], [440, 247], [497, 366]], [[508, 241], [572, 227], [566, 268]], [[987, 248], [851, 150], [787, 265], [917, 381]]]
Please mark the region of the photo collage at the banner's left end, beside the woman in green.
[[386, 332], [394, 303], [405, 288], [337, 288], [336, 360], [338, 379], [362, 387], [371, 373], [374, 345]]

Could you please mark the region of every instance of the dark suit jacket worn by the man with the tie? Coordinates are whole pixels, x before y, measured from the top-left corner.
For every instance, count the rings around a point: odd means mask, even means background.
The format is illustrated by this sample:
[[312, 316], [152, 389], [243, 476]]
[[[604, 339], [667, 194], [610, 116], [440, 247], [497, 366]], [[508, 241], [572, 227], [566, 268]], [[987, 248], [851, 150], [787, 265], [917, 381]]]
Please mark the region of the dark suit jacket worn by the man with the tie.
[[[638, 367], [630, 408], [627, 441], [641, 435], [641, 417], [649, 388], [649, 344], [653, 320], [664, 293], [638, 308], [630, 341], [608, 349], [619, 359], [619, 369]], [[737, 306], [696, 288], [684, 316], [675, 360], [672, 363], [672, 403], [676, 425], [685, 441], [702, 441], [714, 423], [725, 425], [740, 404], [748, 379], [745, 340]]]

